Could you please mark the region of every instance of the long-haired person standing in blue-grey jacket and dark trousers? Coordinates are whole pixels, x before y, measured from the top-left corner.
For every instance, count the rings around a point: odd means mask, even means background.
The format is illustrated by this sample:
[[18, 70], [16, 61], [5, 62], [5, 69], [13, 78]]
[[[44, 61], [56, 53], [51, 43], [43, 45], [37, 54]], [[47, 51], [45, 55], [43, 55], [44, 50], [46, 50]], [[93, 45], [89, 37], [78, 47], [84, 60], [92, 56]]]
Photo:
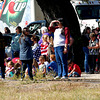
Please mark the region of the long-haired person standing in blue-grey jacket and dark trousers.
[[25, 70], [27, 67], [28, 67], [29, 78], [33, 80], [33, 75], [32, 75], [33, 52], [31, 47], [33, 41], [31, 41], [28, 35], [29, 35], [29, 29], [25, 27], [19, 39], [20, 60], [22, 61], [22, 73], [21, 73], [22, 80], [25, 76]]

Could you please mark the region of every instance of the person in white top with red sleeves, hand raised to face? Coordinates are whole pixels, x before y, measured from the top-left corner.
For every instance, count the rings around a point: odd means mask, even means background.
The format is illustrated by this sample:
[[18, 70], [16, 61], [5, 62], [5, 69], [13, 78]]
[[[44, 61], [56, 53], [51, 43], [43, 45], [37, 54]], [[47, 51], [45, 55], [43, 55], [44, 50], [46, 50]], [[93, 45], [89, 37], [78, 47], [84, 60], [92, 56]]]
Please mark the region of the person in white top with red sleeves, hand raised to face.
[[[57, 26], [54, 27], [54, 24]], [[68, 27], [64, 27], [63, 19], [54, 20], [50, 23], [50, 31], [54, 31], [54, 50], [56, 61], [58, 64], [58, 76], [54, 79], [66, 79], [68, 77], [67, 53], [70, 39], [70, 31]]]

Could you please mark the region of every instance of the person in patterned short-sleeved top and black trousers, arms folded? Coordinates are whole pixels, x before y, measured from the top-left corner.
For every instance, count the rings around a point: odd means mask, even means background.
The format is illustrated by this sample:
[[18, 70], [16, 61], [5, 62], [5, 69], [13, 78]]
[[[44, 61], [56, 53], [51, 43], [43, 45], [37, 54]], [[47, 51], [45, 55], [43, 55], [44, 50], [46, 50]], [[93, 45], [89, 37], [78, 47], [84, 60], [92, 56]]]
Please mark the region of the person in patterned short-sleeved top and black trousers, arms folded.
[[96, 39], [96, 34], [90, 34], [90, 41], [89, 41], [89, 65], [90, 65], [90, 74], [94, 74], [95, 67], [96, 67], [96, 58], [99, 55], [99, 40]]

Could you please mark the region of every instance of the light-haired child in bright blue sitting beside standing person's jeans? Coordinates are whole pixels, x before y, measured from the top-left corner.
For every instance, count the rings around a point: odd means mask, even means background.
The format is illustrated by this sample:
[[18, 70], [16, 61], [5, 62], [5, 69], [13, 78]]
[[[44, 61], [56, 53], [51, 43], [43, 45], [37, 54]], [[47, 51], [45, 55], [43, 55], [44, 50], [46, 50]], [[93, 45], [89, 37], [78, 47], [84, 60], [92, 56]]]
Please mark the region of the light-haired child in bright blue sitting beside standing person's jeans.
[[47, 70], [48, 72], [50, 72], [51, 70], [56, 73], [56, 75], [58, 74], [58, 66], [57, 63], [55, 62], [56, 58], [54, 54], [50, 55], [50, 64], [47, 66]]

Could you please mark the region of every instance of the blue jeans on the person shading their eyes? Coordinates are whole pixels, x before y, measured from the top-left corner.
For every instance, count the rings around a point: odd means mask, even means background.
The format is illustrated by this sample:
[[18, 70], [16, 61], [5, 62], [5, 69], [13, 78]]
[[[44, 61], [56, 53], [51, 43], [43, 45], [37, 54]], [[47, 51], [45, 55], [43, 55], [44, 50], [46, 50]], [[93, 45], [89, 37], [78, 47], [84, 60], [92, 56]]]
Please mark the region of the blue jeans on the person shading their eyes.
[[58, 65], [58, 76], [68, 76], [68, 68], [67, 68], [67, 54], [64, 54], [64, 46], [58, 46], [54, 48], [56, 62]]

